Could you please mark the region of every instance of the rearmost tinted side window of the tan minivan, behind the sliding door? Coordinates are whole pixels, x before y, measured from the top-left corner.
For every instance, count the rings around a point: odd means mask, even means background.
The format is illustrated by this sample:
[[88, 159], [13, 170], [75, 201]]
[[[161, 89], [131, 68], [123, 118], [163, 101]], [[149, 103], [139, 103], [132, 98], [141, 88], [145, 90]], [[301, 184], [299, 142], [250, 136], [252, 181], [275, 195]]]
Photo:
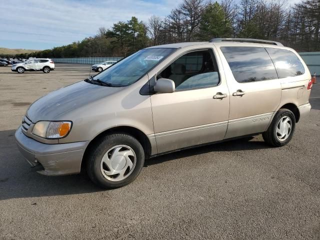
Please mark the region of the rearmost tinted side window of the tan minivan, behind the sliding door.
[[304, 67], [299, 58], [289, 50], [265, 48], [275, 65], [279, 78], [298, 76], [304, 73]]

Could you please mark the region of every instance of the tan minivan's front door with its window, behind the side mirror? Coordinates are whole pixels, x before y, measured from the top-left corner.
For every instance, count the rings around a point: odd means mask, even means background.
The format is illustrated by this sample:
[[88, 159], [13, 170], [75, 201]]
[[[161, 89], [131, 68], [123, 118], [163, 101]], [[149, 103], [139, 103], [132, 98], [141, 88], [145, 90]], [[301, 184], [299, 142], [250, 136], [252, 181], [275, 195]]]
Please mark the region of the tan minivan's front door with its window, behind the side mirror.
[[175, 83], [175, 92], [150, 97], [158, 153], [223, 139], [229, 95], [212, 49], [188, 52], [155, 77]]

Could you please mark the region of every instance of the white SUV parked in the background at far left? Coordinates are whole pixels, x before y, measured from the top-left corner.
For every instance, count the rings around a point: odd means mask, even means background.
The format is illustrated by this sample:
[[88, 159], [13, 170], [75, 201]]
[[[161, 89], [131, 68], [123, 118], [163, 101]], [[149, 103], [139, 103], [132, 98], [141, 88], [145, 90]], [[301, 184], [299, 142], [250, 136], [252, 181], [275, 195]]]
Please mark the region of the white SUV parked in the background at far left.
[[49, 73], [50, 70], [54, 70], [54, 62], [48, 58], [34, 58], [11, 66], [11, 71], [18, 73], [23, 73], [24, 71], [43, 71], [44, 73]]

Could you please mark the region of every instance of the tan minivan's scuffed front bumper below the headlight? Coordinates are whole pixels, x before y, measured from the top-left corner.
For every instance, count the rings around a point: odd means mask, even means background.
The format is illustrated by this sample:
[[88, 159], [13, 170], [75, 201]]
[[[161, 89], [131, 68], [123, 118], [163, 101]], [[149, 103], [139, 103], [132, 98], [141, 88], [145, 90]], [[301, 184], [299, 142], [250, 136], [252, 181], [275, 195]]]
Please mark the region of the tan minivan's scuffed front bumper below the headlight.
[[81, 161], [88, 141], [45, 144], [27, 137], [21, 126], [14, 134], [19, 151], [32, 166], [41, 164], [43, 175], [67, 175], [80, 172]]

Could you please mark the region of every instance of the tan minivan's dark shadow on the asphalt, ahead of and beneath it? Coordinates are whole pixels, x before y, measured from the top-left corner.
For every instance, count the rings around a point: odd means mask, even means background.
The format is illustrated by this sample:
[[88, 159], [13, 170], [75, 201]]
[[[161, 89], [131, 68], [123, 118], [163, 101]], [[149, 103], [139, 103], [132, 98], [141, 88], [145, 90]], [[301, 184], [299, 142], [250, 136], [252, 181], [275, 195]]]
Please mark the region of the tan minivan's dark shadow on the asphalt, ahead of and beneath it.
[[[0, 200], [22, 197], [81, 194], [103, 191], [95, 186], [86, 174], [44, 176], [30, 168], [20, 154], [15, 130], [0, 131]], [[144, 166], [212, 151], [233, 151], [268, 148], [263, 141], [250, 141], [246, 137], [222, 143], [199, 146], [150, 158]]]

